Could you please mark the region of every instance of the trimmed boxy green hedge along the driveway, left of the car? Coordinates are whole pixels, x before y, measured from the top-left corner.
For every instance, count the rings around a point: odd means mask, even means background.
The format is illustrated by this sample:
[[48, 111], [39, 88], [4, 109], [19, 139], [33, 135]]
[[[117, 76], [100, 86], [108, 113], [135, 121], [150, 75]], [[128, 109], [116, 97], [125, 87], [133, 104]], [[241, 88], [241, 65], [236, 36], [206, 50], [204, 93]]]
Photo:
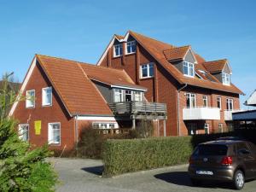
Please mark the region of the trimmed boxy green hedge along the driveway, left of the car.
[[188, 163], [191, 137], [108, 140], [103, 144], [105, 176]]

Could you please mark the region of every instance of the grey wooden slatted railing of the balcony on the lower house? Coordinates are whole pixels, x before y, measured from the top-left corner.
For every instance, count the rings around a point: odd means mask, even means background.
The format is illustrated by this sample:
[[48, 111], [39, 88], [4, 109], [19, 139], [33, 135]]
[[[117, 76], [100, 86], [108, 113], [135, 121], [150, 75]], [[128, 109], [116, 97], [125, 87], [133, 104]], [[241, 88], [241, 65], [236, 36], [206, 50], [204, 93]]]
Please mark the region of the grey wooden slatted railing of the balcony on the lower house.
[[166, 103], [114, 102], [108, 104], [114, 114], [160, 114], [166, 115]]

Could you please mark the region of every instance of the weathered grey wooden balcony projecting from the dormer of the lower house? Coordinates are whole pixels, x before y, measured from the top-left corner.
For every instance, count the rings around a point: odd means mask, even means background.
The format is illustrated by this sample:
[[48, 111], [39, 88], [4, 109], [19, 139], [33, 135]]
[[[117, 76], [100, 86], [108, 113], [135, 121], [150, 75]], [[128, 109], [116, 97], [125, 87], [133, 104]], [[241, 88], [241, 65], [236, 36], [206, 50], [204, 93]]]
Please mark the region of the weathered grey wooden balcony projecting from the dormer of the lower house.
[[114, 102], [108, 104], [115, 115], [132, 115], [135, 119], [166, 119], [166, 103]]

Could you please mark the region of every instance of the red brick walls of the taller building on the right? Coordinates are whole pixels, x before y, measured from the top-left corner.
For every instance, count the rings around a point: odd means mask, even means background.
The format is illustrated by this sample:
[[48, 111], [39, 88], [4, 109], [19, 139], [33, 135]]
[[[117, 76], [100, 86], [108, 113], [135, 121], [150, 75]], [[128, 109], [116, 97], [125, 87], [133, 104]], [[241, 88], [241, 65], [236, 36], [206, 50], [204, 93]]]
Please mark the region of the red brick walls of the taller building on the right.
[[[123, 51], [125, 52], [125, 51]], [[108, 59], [107, 59], [108, 57]], [[154, 78], [151, 79], [139, 79], [139, 66], [144, 63], [154, 62], [156, 64], [156, 70]], [[167, 136], [174, 135], [177, 136], [177, 89], [181, 87], [177, 83], [176, 79], [166, 72], [166, 69], [161, 67], [154, 58], [148, 54], [148, 52], [143, 49], [142, 46], [137, 44], [137, 53], [132, 55], [123, 55], [118, 58], [113, 58], [113, 47], [108, 50], [108, 55], [102, 60], [102, 66], [113, 67], [124, 69], [128, 73], [131, 79], [148, 89], [145, 96], [148, 102], [164, 102], [167, 105], [167, 120], [166, 120], [166, 133]], [[202, 106], [202, 96], [208, 96], [208, 106], [217, 107], [217, 96], [222, 96], [222, 110], [220, 120], [207, 120], [207, 121], [194, 121], [201, 131], [199, 133], [204, 133], [204, 124], [209, 124], [210, 132], [218, 130], [218, 123], [224, 125], [224, 131], [227, 130], [226, 122], [224, 121], [224, 109], [226, 108], [225, 100], [227, 97], [234, 99], [234, 108], [238, 109], [239, 106], [239, 95], [224, 93], [218, 90], [207, 90], [203, 88], [189, 88], [180, 92], [180, 107], [179, 107], [179, 122], [180, 122], [180, 132], [181, 135], [188, 135], [187, 127], [183, 121], [183, 108], [186, 107], [186, 99], [184, 93], [193, 92], [196, 93], [196, 105]], [[160, 121], [160, 133], [163, 135], [163, 125]]]

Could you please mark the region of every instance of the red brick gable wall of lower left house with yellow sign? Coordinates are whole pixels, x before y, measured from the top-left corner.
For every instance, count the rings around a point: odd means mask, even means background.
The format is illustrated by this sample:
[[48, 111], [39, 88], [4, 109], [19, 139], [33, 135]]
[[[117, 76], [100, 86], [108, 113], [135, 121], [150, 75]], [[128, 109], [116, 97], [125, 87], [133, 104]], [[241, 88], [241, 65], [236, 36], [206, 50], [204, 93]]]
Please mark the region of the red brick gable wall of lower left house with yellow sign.
[[[26, 108], [26, 101], [20, 101], [15, 109], [14, 117], [19, 120], [20, 124], [29, 124], [29, 141], [35, 146], [42, 146], [48, 143], [49, 123], [60, 122], [61, 145], [51, 145], [50, 148], [62, 149], [67, 145], [67, 149], [71, 149], [74, 144], [74, 120], [68, 116], [54, 89], [53, 105], [51, 107], [42, 106], [42, 88], [47, 86], [51, 86], [51, 84], [37, 64], [24, 90], [24, 96], [26, 96], [26, 90], [35, 90], [35, 108]], [[36, 120], [41, 120], [40, 135], [35, 135], [34, 121]]]

